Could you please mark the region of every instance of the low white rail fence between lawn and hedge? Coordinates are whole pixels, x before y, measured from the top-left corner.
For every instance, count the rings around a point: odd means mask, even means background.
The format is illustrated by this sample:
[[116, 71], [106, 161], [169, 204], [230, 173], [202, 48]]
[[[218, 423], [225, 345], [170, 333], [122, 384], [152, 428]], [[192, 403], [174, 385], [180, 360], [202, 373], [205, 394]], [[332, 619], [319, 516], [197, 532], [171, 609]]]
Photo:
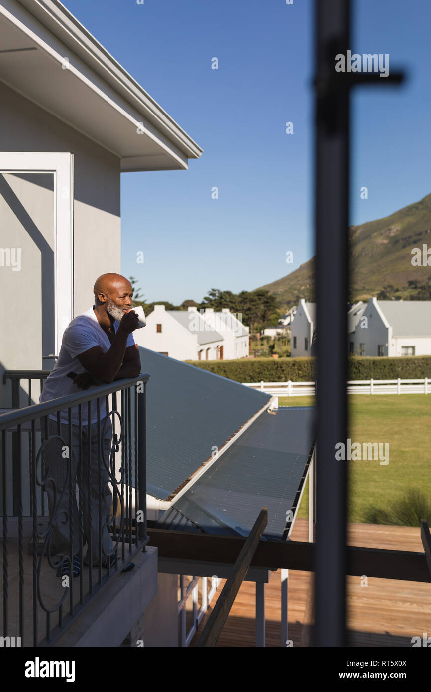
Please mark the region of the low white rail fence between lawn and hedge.
[[[314, 382], [244, 382], [247, 387], [279, 397], [306, 397], [315, 394]], [[431, 394], [431, 380], [351, 380], [348, 394]]]

